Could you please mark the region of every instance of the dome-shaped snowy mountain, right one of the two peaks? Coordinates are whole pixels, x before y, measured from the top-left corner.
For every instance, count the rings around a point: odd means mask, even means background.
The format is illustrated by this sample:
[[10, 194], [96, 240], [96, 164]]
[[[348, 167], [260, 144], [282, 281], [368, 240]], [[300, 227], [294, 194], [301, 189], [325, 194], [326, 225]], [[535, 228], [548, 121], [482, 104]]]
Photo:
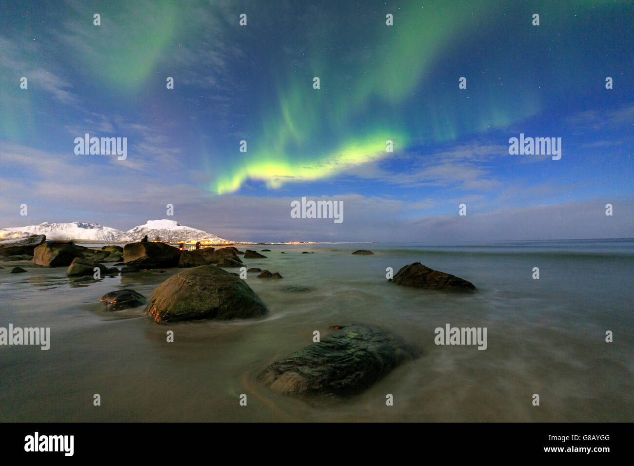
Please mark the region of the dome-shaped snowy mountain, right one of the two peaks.
[[145, 225], [135, 226], [132, 230], [125, 231], [119, 236], [120, 242], [140, 241], [143, 236], [148, 235], [148, 240], [158, 239], [168, 243], [178, 243], [179, 241], [200, 241], [210, 243], [228, 243], [219, 236], [207, 233], [207, 231], [197, 230], [190, 226], [184, 226], [174, 220], [149, 220]]

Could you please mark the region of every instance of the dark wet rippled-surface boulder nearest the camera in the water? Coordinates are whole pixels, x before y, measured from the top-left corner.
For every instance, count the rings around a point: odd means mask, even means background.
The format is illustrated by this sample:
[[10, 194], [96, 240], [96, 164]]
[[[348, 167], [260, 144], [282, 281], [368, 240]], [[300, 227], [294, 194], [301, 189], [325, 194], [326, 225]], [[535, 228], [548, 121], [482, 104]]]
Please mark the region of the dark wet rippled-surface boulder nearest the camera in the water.
[[280, 393], [346, 396], [370, 387], [418, 356], [417, 349], [383, 328], [333, 328], [337, 331], [273, 363], [257, 378]]

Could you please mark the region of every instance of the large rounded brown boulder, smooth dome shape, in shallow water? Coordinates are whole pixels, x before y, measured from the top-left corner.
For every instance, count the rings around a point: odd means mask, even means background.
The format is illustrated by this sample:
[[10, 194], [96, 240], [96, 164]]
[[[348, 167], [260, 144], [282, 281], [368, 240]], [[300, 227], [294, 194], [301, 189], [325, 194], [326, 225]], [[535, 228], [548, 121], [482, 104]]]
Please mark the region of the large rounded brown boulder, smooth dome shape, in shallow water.
[[264, 303], [232, 273], [205, 265], [186, 269], [155, 288], [145, 309], [157, 322], [262, 316]]

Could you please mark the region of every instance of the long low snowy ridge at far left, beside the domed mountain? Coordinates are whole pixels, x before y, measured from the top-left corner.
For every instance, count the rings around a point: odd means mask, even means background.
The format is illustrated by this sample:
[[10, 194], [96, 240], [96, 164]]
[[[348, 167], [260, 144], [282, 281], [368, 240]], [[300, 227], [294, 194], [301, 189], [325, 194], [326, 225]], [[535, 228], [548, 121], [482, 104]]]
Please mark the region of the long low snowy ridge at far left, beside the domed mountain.
[[48, 240], [94, 240], [115, 242], [123, 232], [98, 223], [41, 223], [39, 225], [0, 228], [2, 238], [46, 235]]

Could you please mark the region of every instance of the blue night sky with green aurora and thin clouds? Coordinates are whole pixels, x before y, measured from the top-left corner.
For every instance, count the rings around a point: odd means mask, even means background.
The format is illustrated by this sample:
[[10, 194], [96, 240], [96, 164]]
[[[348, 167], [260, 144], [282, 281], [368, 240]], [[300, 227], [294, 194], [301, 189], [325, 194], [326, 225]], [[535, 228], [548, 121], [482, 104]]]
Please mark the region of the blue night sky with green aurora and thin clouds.
[[[0, 226], [128, 230], [173, 204], [243, 241], [631, 237], [633, 16], [618, 0], [6, 2]], [[75, 155], [84, 133], [126, 137], [127, 159]], [[520, 133], [562, 138], [561, 160], [509, 155]], [[343, 201], [343, 223], [291, 218], [304, 196]]]

